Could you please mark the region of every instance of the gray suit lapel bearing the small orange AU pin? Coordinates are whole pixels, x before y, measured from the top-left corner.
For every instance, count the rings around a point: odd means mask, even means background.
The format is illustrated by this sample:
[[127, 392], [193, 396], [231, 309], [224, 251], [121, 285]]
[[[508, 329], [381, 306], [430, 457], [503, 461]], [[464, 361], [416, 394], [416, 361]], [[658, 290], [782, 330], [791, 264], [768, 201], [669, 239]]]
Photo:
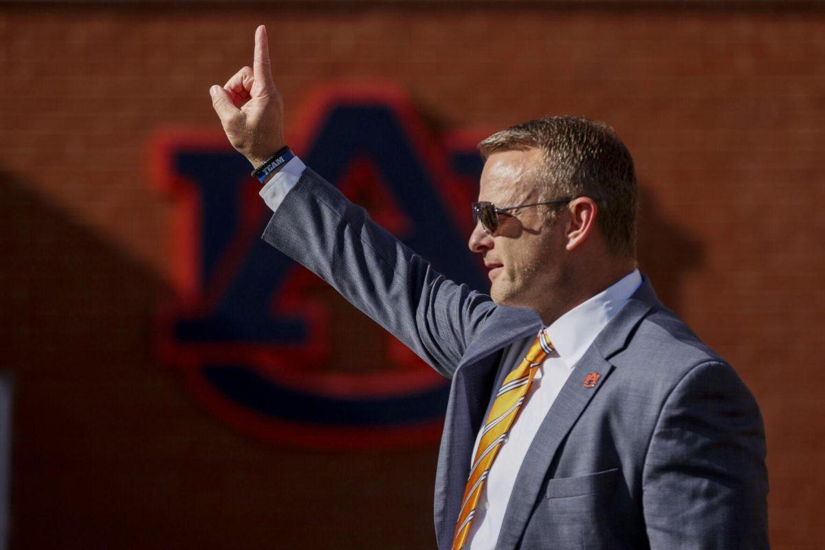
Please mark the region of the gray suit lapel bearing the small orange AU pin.
[[610, 357], [625, 348], [634, 328], [654, 303], [657, 303], [656, 295], [647, 278], [644, 278], [642, 286], [596, 336], [596, 341], [573, 367], [521, 463], [507, 503], [497, 550], [516, 548], [559, 444], [582, 416], [593, 396], [609, 382], [607, 378], [615, 368], [609, 361]]

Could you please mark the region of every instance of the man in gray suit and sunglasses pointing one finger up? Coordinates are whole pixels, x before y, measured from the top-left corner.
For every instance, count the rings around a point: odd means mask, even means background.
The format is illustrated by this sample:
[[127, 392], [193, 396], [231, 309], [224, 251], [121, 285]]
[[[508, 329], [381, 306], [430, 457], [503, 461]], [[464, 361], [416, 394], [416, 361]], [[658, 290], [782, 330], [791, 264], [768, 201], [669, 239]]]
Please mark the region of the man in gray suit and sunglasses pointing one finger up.
[[636, 269], [633, 162], [609, 127], [533, 120], [480, 144], [487, 296], [285, 150], [263, 27], [254, 67], [210, 93], [264, 172], [266, 242], [452, 378], [439, 548], [768, 547], [757, 404]]

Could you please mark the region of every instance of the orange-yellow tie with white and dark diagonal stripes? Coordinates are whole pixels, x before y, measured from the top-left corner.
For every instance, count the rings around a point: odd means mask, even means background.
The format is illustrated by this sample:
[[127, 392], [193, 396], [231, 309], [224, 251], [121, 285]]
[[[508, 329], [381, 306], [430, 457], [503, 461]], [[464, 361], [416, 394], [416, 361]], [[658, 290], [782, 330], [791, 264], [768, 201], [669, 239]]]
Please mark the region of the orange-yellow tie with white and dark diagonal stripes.
[[527, 351], [524, 360], [510, 374], [507, 374], [502, 387], [498, 390], [493, 408], [490, 409], [490, 415], [481, 431], [479, 449], [476, 450], [473, 464], [469, 468], [469, 478], [467, 487], [464, 489], [464, 499], [461, 501], [459, 519], [455, 522], [452, 550], [464, 548], [469, 526], [475, 515], [475, 507], [479, 504], [479, 496], [481, 496], [490, 467], [493, 466], [493, 460], [498, 454], [498, 449], [501, 449], [507, 439], [510, 427], [516, 421], [521, 403], [524, 402], [530, 383], [533, 382], [535, 369], [551, 351], [553, 351], [553, 346], [547, 336], [544, 336], [544, 331], [541, 331], [533, 345], [530, 346], [530, 350]]

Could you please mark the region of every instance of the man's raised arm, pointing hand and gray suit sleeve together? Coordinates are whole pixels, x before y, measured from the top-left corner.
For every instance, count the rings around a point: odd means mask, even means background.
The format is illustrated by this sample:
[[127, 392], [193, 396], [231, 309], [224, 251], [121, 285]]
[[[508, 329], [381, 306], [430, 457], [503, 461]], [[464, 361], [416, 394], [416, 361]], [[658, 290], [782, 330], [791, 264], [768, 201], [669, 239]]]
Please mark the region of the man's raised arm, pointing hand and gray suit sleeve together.
[[[253, 167], [284, 147], [283, 102], [272, 82], [263, 26], [255, 33], [253, 67], [210, 94], [229, 142]], [[309, 168], [285, 194], [263, 238], [447, 377], [496, 307], [488, 295], [432, 270]]]

